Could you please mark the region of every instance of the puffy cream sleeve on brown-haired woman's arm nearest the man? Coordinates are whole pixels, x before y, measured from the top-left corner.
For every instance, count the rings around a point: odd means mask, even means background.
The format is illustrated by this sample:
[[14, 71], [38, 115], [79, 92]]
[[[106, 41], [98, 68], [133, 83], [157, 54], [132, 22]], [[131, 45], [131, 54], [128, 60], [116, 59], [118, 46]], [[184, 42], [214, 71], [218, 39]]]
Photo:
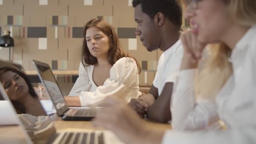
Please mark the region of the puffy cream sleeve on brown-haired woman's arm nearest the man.
[[80, 94], [81, 106], [101, 105], [102, 100], [108, 96], [115, 95], [123, 98], [124, 93], [127, 93], [129, 89], [138, 93], [138, 69], [134, 59], [124, 57], [113, 65], [109, 79], [104, 82], [103, 86], [97, 87], [96, 92]]

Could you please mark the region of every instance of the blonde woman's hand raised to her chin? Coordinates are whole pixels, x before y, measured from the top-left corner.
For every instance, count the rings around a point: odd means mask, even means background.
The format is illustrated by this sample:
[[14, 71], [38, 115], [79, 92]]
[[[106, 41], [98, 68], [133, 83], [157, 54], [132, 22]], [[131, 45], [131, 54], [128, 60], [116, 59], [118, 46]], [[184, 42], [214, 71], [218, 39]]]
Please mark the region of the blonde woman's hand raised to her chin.
[[181, 70], [196, 68], [206, 44], [200, 43], [199, 40], [197, 40], [197, 35], [193, 34], [191, 29], [182, 33], [180, 39], [184, 49]]

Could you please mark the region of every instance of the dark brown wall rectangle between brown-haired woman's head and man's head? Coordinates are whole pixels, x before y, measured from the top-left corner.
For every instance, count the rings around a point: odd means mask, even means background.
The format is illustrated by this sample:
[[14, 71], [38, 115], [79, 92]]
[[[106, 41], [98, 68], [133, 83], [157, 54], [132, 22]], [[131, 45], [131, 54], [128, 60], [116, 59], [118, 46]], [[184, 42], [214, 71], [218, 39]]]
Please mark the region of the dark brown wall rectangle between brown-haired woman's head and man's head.
[[118, 27], [118, 38], [124, 38], [124, 39], [135, 39], [135, 31], [136, 28], [123, 28], [123, 27]]

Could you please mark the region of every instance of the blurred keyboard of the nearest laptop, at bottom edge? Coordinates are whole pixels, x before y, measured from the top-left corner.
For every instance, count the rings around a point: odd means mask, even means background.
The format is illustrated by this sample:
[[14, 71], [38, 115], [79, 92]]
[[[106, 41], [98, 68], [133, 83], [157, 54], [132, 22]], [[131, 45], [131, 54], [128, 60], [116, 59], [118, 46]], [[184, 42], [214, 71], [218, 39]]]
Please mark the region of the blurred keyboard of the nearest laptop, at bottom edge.
[[73, 133], [65, 132], [58, 134], [53, 143], [89, 143], [89, 144], [104, 144], [103, 133], [87, 132], [87, 133]]

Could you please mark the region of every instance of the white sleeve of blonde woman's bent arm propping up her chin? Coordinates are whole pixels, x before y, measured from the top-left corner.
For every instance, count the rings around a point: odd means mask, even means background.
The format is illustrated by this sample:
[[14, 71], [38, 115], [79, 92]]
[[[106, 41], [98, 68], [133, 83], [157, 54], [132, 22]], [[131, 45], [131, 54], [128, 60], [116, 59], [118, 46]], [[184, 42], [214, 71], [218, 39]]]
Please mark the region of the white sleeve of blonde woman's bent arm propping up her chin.
[[218, 123], [216, 103], [206, 99], [197, 101], [194, 96], [193, 77], [195, 71], [180, 71], [177, 83], [174, 85], [171, 100], [171, 123], [174, 130], [206, 129], [208, 126]]

